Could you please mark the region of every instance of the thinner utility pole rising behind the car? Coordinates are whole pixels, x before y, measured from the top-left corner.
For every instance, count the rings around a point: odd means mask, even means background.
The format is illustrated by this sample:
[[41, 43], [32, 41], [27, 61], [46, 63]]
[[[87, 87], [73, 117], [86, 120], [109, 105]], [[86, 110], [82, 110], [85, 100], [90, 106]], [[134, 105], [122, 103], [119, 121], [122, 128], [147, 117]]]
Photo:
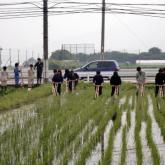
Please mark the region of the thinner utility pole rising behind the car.
[[105, 0], [102, 0], [102, 23], [101, 23], [101, 59], [104, 60], [104, 35], [105, 35]]

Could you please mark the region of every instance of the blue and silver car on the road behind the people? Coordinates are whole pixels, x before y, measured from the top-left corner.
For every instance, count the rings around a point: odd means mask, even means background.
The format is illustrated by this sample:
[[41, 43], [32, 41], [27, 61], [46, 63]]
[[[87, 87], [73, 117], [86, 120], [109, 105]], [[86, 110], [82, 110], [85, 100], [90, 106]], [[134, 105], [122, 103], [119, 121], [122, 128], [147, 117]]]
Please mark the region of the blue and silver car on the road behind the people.
[[115, 60], [96, 60], [75, 69], [74, 72], [79, 75], [80, 79], [84, 79], [94, 77], [96, 71], [99, 70], [104, 78], [109, 78], [114, 71], [119, 69], [119, 64]]

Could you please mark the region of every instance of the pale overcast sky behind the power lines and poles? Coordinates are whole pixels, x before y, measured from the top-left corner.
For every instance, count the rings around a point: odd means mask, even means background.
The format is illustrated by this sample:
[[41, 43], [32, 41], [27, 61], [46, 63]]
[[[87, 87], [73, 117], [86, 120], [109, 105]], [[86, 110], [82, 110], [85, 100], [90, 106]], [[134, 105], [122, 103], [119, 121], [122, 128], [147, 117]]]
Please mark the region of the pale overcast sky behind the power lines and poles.
[[[0, 4], [27, 1], [0, 0]], [[41, 2], [41, 0], [30, 1]], [[102, 2], [102, 0], [77, 1]], [[52, 5], [57, 0], [48, 0], [48, 2], [49, 5]], [[164, 0], [106, 0], [106, 2], [165, 3]], [[165, 6], [163, 9], [165, 10]], [[28, 58], [31, 56], [42, 58], [42, 21], [42, 17], [0, 19], [0, 47], [3, 49], [2, 60], [4, 65], [9, 62], [9, 49], [11, 49], [12, 63], [17, 61], [18, 50], [21, 62], [26, 59], [26, 55]], [[138, 53], [139, 51], [148, 51], [153, 46], [165, 51], [165, 18], [106, 14], [105, 21], [105, 51], [117, 50]], [[94, 44], [95, 52], [100, 51], [100, 13], [49, 16], [48, 29], [49, 56], [51, 52], [61, 49], [62, 44]]]

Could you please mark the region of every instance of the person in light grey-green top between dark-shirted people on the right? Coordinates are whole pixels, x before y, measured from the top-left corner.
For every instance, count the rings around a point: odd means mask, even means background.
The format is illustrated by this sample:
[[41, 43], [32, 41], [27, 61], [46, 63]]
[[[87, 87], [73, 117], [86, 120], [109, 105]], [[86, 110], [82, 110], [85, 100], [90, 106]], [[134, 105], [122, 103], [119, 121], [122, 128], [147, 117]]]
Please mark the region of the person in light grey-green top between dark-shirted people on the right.
[[141, 96], [144, 96], [145, 81], [146, 81], [145, 72], [142, 71], [141, 67], [137, 67], [137, 73], [136, 73], [137, 94], [140, 93]]

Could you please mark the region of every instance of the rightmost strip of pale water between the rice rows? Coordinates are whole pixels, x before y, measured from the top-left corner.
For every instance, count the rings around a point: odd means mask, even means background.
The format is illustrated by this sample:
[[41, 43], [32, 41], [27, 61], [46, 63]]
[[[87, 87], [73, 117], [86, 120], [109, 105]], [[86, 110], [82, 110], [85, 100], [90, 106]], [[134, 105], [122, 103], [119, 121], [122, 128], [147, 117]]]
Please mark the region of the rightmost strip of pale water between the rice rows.
[[148, 112], [152, 120], [152, 135], [153, 135], [153, 140], [154, 143], [157, 145], [159, 154], [160, 154], [160, 162], [162, 165], [165, 164], [165, 144], [163, 141], [163, 137], [161, 135], [161, 130], [158, 126], [158, 123], [155, 120], [154, 117], [154, 112], [153, 112], [153, 104], [151, 97], [148, 97], [149, 100], [149, 107], [148, 107]]

